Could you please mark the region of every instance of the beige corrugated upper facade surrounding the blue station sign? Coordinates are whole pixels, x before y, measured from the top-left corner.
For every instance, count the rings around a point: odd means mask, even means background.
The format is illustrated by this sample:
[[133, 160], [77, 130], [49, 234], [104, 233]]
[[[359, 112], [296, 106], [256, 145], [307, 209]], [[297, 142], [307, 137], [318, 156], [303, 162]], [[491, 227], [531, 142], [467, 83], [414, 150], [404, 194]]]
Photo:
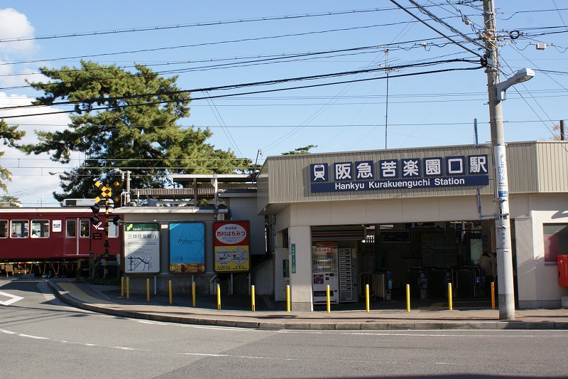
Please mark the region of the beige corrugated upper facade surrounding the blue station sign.
[[[360, 199], [424, 198], [434, 196], [475, 196], [474, 186], [441, 188], [395, 188], [376, 191], [312, 193], [310, 164], [373, 161], [382, 159], [429, 158], [435, 156], [488, 155], [489, 185], [481, 195], [493, 194], [493, 154], [488, 145], [442, 146], [425, 149], [348, 151], [329, 154], [270, 156], [258, 178], [258, 195], [264, 205]], [[515, 142], [507, 145], [509, 192], [538, 193], [568, 191], [568, 142]], [[264, 182], [263, 182], [264, 181]], [[268, 196], [263, 197], [263, 193]]]

